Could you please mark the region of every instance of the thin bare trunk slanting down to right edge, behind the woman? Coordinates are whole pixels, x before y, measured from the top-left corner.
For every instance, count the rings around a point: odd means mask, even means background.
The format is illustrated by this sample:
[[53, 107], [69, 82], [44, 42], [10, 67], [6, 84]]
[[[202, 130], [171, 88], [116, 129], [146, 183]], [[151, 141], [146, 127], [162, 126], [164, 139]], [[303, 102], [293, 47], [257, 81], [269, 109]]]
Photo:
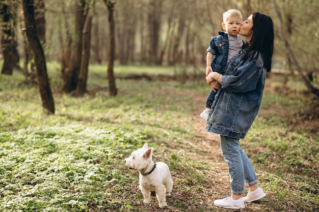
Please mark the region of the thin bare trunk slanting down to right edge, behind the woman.
[[319, 89], [315, 88], [314, 86], [312, 86], [312, 84], [310, 83], [310, 81], [307, 79], [306, 76], [304, 76], [304, 74], [302, 73], [302, 69], [301, 67], [299, 66], [299, 63], [294, 55], [294, 52], [291, 50], [290, 48], [290, 45], [284, 35], [284, 29], [283, 29], [283, 21], [282, 21], [282, 17], [281, 17], [281, 14], [278, 10], [278, 6], [276, 4], [276, 1], [273, 0], [273, 5], [274, 5], [274, 9], [275, 9], [275, 12], [277, 14], [277, 17], [278, 17], [278, 24], [279, 24], [279, 34], [280, 34], [280, 37], [281, 37], [281, 40], [284, 42], [284, 45], [285, 45], [285, 48], [286, 48], [286, 51], [288, 53], [288, 57], [289, 59], [291, 60], [291, 63], [294, 64], [294, 66], [296, 67], [296, 69], [298, 70], [298, 74], [300, 75], [300, 77], [302, 78], [302, 80], [304, 81], [306, 87], [310, 90], [311, 93], [319, 96]]

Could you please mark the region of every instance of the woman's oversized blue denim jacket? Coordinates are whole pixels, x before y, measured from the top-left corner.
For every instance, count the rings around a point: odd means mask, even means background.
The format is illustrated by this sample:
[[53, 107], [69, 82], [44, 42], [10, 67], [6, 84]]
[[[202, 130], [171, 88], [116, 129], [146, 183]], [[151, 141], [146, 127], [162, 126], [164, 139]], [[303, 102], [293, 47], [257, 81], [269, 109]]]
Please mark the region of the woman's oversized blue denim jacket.
[[255, 60], [241, 61], [241, 51], [227, 65], [206, 123], [206, 131], [244, 138], [255, 119], [262, 98], [266, 69], [259, 54]]

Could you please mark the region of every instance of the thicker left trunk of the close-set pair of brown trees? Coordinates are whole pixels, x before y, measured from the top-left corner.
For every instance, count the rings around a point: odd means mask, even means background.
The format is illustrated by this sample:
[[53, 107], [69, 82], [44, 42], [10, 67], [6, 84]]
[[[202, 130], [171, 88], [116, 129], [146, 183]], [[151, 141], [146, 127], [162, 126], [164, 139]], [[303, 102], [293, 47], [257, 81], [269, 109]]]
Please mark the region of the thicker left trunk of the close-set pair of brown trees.
[[73, 38], [73, 46], [71, 52], [70, 63], [66, 70], [63, 71], [63, 92], [71, 93], [76, 89], [78, 82], [79, 70], [81, 68], [81, 54], [82, 54], [82, 33], [87, 16], [85, 12], [86, 0], [81, 0], [81, 4], [76, 5], [76, 16], [75, 16], [75, 30]]

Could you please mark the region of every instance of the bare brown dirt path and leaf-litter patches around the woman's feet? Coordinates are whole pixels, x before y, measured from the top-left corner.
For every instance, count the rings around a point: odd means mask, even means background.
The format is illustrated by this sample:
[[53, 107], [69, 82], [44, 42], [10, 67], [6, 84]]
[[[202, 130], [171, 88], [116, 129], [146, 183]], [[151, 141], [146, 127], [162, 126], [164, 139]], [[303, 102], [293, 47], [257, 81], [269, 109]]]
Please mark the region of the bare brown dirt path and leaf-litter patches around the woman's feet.
[[[266, 90], [271, 92], [276, 92], [271, 87], [265, 87]], [[176, 94], [176, 91], [172, 91], [172, 97], [178, 95], [188, 95], [191, 99], [193, 99], [194, 105], [203, 105], [206, 100], [206, 96], [200, 96], [198, 94]], [[291, 91], [290, 91], [291, 92]], [[289, 93], [289, 90], [287, 90]], [[291, 95], [294, 95], [294, 91], [291, 92]], [[309, 95], [309, 94], [308, 94]], [[313, 98], [313, 95], [309, 95], [309, 98]], [[259, 114], [267, 115], [278, 115], [278, 116], [287, 116], [287, 120], [292, 127], [296, 128], [307, 128], [312, 129], [315, 134], [319, 128], [319, 122], [317, 122], [317, 118], [313, 118], [307, 121], [302, 120], [302, 118], [294, 118], [291, 117], [289, 112], [286, 112], [286, 108], [281, 106], [274, 106], [268, 109], [260, 109]], [[318, 116], [319, 107], [313, 105], [311, 107], [309, 113], [312, 115]], [[304, 111], [305, 114], [308, 114], [308, 110]], [[166, 208], [159, 208], [157, 206], [157, 199], [155, 194], [153, 194], [153, 199], [151, 204], [144, 205], [143, 203], [137, 203], [141, 211], [254, 211], [254, 212], [263, 212], [263, 211], [301, 211], [298, 206], [294, 204], [294, 199], [285, 198], [284, 203], [277, 202], [276, 194], [272, 194], [271, 191], [264, 190], [267, 194], [261, 200], [245, 203], [245, 208], [243, 209], [227, 209], [220, 208], [214, 205], [215, 199], [222, 199], [230, 195], [230, 180], [228, 174], [227, 164], [224, 161], [224, 158], [220, 149], [220, 138], [218, 134], [208, 133], [205, 131], [205, 121], [199, 116], [199, 114], [203, 111], [203, 107], [196, 107], [193, 111], [192, 122], [194, 125], [193, 134], [198, 135], [194, 139], [189, 139], [184, 141], [184, 145], [181, 146], [179, 151], [183, 153], [183, 160], [192, 160], [192, 161], [201, 161], [207, 163], [211, 169], [206, 169], [202, 172], [205, 175], [205, 186], [201, 188], [201, 192], [198, 190], [194, 191], [193, 195], [189, 195], [192, 192], [189, 191], [187, 193], [182, 192], [181, 188], [183, 187], [184, 182], [181, 180], [186, 173], [171, 171], [172, 178], [174, 180], [175, 189], [173, 189], [172, 195], [167, 197], [168, 206]], [[290, 117], [289, 117], [290, 116]], [[179, 146], [180, 147], [180, 146]], [[178, 146], [174, 146], [173, 148], [178, 151]], [[177, 149], [176, 149], [177, 148]], [[246, 147], [243, 148], [245, 152], [258, 153], [262, 147]], [[156, 149], [156, 147], [155, 147]], [[187, 150], [186, 150], [187, 149]], [[193, 149], [193, 150], [192, 150]], [[196, 149], [196, 150], [195, 150]], [[185, 153], [185, 151], [189, 151]], [[156, 153], [155, 153], [156, 154]], [[253, 162], [254, 166], [254, 162]], [[201, 172], [201, 170], [198, 170]], [[269, 174], [270, 170], [256, 169], [257, 177], [263, 174]], [[297, 173], [298, 174], [298, 173]], [[300, 173], [302, 175], [302, 173]], [[137, 175], [136, 175], [137, 176]], [[276, 176], [277, 177], [277, 176]], [[280, 177], [278, 177], [280, 178]], [[281, 179], [284, 183], [285, 179]], [[288, 185], [288, 183], [286, 183]], [[262, 182], [261, 182], [262, 187]], [[190, 188], [192, 189], [192, 188]], [[248, 191], [248, 187], [245, 188]], [[291, 188], [293, 189], [293, 188]], [[135, 186], [135, 191], [140, 192], [138, 185]], [[293, 191], [291, 193], [294, 193]], [[244, 195], [245, 196], [245, 195]], [[196, 202], [194, 202], [196, 201]], [[178, 202], [183, 202], [184, 209], [177, 209], [175, 205], [178, 205]], [[282, 209], [278, 209], [276, 204], [280, 204], [279, 207]], [[185, 206], [187, 205], [187, 206]], [[272, 206], [273, 205], [273, 206]], [[317, 208], [315, 211], [319, 211]]]

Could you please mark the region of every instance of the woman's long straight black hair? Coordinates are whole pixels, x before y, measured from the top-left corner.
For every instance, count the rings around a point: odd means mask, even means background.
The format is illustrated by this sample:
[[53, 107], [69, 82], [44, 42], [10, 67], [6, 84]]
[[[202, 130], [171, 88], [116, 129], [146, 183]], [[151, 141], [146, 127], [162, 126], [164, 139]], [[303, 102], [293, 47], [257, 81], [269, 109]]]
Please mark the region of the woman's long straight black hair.
[[[252, 36], [243, 60], [256, 59], [258, 52], [263, 59], [267, 72], [271, 72], [274, 51], [274, 23], [271, 17], [261, 13], [253, 13]], [[250, 54], [251, 53], [251, 54]], [[250, 55], [250, 56], [249, 56]]]

